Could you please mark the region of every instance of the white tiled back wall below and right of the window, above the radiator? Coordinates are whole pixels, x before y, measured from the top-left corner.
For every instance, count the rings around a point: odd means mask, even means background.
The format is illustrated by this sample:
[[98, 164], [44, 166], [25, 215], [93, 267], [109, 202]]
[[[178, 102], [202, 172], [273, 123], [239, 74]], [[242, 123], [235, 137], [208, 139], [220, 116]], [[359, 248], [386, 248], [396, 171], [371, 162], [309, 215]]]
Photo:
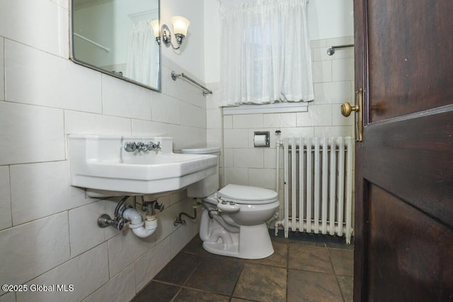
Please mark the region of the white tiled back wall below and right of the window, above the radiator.
[[[354, 102], [353, 50], [327, 55], [331, 45], [352, 43], [353, 37], [311, 41], [315, 98], [309, 103], [308, 112], [223, 116], [224, 185], [236, 183], [275, 190], [275, 130], [282, 132], [281, 137], [354, 135], [354, 118], [340, 114], [341, 103]], [[207, 121], [217, 120], [219, 115], [217, 110], [207, 110]], [[209, 132], [217, 124], [208, 122], [207, 127]], [[255, 131], [270, 132], [270, 148], [253, 147]]]

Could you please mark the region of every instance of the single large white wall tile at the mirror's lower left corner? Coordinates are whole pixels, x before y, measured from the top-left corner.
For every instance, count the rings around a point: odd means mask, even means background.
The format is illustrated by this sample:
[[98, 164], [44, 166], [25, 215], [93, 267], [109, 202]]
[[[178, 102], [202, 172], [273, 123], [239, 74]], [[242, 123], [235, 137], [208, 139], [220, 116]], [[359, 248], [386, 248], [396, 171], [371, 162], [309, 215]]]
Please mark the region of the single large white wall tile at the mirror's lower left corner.
[[68, 59], [6, 39], [5, 78], [9, 102], [101, 113], [101, 74]]

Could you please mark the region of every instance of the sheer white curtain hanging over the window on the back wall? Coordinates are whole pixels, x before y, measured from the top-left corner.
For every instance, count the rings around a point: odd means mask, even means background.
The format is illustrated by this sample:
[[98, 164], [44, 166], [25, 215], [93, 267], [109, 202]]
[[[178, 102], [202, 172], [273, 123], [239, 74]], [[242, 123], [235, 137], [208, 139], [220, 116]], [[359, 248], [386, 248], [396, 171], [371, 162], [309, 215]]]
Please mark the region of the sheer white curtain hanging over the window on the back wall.
[[220, 0], [220, 106], [314, 99], [308, 0]]

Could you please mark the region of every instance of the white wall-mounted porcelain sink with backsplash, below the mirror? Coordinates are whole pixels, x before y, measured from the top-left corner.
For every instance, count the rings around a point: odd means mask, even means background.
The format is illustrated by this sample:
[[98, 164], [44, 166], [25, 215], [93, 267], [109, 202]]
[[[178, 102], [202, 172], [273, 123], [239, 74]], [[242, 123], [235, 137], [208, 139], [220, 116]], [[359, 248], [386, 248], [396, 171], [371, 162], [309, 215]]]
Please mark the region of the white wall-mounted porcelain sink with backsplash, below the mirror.
[[[126, 142], [158, 144], [126, 151]], [[173, 153], [171, 137], [68, 136], [71, 185], [88, 196], [171, 192], [216, 173], [217, 156]]]

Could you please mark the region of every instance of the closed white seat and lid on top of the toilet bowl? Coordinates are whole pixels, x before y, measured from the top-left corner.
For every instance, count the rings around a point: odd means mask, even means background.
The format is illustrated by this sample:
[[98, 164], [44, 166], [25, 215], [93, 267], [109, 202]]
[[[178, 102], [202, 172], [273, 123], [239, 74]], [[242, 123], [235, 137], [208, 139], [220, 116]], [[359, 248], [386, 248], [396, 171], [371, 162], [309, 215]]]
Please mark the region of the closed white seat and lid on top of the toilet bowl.
[[277, 192], [263, 187], [229, 184], [217, 192], [217, 198], [236, 204], [270, 204], [277, 201]]

